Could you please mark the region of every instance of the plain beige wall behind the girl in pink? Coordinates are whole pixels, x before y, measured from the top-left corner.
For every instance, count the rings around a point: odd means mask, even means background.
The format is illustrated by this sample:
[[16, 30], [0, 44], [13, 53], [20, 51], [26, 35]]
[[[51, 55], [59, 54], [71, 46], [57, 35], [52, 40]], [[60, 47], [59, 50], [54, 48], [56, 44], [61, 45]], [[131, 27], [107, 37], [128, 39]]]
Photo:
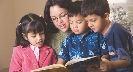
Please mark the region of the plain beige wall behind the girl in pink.
[[15, 28], [27, 13], [43, 15], [46, 0], [0, 0], [0, 72], [8, 72]]

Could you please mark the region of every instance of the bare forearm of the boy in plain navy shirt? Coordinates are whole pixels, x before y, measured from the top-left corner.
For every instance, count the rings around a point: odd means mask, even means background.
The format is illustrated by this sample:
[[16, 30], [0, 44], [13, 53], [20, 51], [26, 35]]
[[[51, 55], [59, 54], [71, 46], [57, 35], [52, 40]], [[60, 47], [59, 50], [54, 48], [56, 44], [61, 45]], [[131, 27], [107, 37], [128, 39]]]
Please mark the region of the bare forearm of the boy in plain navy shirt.
[[110, 61], [112, 63], [111, 69], [124, 68], [130, 64], [128, 60], [116, 60]]

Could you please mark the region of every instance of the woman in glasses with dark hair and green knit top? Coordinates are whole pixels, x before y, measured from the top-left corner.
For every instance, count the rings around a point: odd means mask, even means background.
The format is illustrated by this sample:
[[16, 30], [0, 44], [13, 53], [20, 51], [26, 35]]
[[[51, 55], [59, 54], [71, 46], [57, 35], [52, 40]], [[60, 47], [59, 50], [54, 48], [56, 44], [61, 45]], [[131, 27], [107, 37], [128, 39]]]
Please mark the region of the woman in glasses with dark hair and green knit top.
[[[70, 33], [68, 8], [71, 0], [47, 0], [44, 10], [44, 20], [49, 27], [48, 44], [59, 52], [63, 39]], [[56, 43], [56, 44], [55, 44]]]

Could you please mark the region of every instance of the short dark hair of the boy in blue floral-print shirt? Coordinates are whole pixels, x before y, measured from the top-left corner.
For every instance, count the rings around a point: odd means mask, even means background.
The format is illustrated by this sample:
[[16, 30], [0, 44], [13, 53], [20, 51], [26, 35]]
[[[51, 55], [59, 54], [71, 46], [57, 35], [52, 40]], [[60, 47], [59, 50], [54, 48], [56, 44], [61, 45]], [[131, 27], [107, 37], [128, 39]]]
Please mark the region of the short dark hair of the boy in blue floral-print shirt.
[[77, 16], [78, 14], [81, 14], [81, 4], [82, 4], [82, 1], [72, 2], [68, 9], [68, 16], [73, 17], [73, 16]]

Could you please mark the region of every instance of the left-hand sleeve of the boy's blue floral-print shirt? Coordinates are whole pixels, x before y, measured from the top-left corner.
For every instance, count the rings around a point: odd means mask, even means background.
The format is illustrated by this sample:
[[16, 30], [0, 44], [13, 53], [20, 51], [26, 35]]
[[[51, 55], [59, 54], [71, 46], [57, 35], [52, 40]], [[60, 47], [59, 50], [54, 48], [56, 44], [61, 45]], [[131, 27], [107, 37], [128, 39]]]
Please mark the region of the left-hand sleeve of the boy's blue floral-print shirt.
[[69, 36], [66, 37], [65, 40], [62, 42], [60, 51], [58, 53], [58, 58], [61, 58], [65, 61], [70, 60], [68, 44], [69, 44]]

